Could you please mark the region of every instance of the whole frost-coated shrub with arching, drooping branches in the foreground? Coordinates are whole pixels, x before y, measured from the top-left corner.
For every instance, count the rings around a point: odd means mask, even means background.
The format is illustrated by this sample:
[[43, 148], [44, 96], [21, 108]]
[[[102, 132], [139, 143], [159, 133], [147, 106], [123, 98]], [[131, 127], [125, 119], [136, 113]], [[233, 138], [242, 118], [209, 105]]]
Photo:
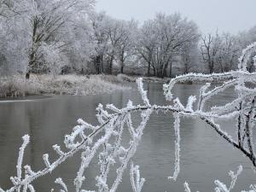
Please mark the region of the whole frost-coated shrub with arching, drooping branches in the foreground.
[[[106, 108], [102, 104], [96, 108], [96, 117], [98, 125], [90, 125], [83, 119], [79, 119], [79, 125], [73, 128], [73, 132], [66, 135], [64, 143], [66, 148], [61, 149], [59, 145], [53, 148], [58, 154], [55, 160], [49, 160], [49, 154], [43, 155], [45, 167], [39, 171], [33, 171], [31, 166], [22, 166], [24, 149], [29, 143], [29, 136], [23, 137], [23, 144], [20, 147], [19, 158], [17, 162], [17, 175], [11, 177], [13, 187], [7, 190], [0, 189], [1, 192], [12, 191], [35, 191], [32, 182], [38, 177], [43, 177], [55, 170], [73, 154], [81, 153], [81, 164], [77, 177], [74, 178], [74, 189], [70, 191], [76, 192], [92, 192], [83, 189], [85, 180], [84, 172], [90, 166], [91, 160], [98, 155], [98, 165], [100, 172], [96, 176], [97, 192], [115, 192], [122, 181], [126, 168], [131, 163], [131, 159], [136, 154], [143, 131], [146, 128], [150, 115], [154, 112], [172, 113], [174, 120], [174, 131], [176, 139], [175, 144], [175, 171], [169, 178], [177, 180], [180, 170], [180, 120], [181, 117], [198, 118], [210, 125], [214, 131], [222, 137], [227, 143], [241, 151], [254, 167], [256, 167], [255, 152], [253, 147], [253, 126], [255, 125], [255, 102], [256, 102], [256, 73], [247, 72], [247, 58], [255, 51], [256, 44], [252, 44], [245, 49], [239, 60], [239, 69], [228, 73], [212, 73], [212, 74], [195, 74], [189, 73], [172, 79], [169, 84], [164, 85], [166, 99], [170, 101], [169, 105], [159, 106], [153, 105], [148, 100], [147, 91], [143, 90], [142, 79], [137, 79], [138, 91], [142, 97], [143, 104], [134, 105], [131, 101], [127, 103], [125, 108], [116, 108], [113, 104], [108, 104]], [[178, 98], [173, 99], [172, 88], [177, 82], [184, 81], [202, 81], [211, 82], [218, 80], [221, 84], [211, 86], [207, 83], [201, 87], [199, 98], [189, 96], [187, 103], [182, 103]], [[206, 108], [205, 103], [212, 96], [218, 95], [226, 89], [234, 88], [237, 97], [226, 104], [219, 103], [219, 106]], [[197, 100], [197, 105], [195, 102]], [[131, 113], [140, 112], [141, 122], [137, 127], [132, 123]], [[229, 133], [224, 131], [218, 124], [218, 119], [236, 119], [237, 129], [236, 137], [231, 137]], [[130, 142], [122, 141], [123, 132], [127, 129], [130, 132]], [[113, 166], [115, 165], [115, 166]], [[108, 180], [108, 173], [113, 167], [116, 169], [116, 177], [111, 183]], [[236, 173], [230, 172], [231, 183], [227, 187], [224, 183], [216, 180], [216, 192], [230, 192], [236, 183], [237, 177], [240, 175], [242, 167], [239, 166]], [[24, 172], [24, 173], [23, 173]], [[141, 192], [144, 179], [140, 177], [138, 166], [131, 163], [131, 186], [134, 192]], [[22, 177], [24, 176], [24, 177]], [[61, 191], [67, 191], [67, 185], [61, 178], [57, 178], [55, 183], [61, 185]], [[190, 192], [189, 184], [184, 183], [185, 191]], [[94, 192], [96, 192], [94, 191]], [[255, 192], [255, 186], [251, 186], [250, 192]]]

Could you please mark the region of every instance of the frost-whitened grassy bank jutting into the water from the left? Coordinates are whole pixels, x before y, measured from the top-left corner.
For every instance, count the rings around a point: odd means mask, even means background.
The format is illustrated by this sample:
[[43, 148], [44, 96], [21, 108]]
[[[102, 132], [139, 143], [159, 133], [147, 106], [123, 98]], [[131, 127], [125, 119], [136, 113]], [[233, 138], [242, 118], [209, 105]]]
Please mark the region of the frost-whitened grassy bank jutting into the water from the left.
[[31, 75], [26, 80], [21, 75], [0, 78], [0, 97], [20, 97], [38, 95], [86, 96], [112, 93], [130, 89], [125, 81], [110, 75]]

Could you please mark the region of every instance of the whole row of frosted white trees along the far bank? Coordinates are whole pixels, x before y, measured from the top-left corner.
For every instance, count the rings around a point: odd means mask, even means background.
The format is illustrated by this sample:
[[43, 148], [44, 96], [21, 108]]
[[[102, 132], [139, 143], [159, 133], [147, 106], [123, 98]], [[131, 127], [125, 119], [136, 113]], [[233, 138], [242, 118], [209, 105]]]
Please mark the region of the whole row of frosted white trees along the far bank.
[[[201, 34], [180, 14], [139, 25], [97, 13], [94, 0], [0, 3], [0, 73], [129, 73], [172, 77], [236, 69], [256, 26], [236, 35]], [[253, 58], [248, 65], [253, 70]]]

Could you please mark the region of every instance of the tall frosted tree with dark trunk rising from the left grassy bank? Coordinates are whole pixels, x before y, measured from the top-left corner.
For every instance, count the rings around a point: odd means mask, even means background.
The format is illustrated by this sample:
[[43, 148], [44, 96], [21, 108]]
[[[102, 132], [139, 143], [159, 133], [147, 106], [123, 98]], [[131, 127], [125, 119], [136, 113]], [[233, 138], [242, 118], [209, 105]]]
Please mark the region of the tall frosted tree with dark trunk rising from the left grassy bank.
[[9, 9], [19, 15], [19, 26], [24, 27], [29, 44], [26, 47], [26, 52], [29, 53], [26, 79], [29, 79], [32, 72], [48, 70], [44, 66], [48, 56], [44, 55], [40, 47], [55, 47], [55, 53], [61, 55], [66, 46], [65, 41], [61, 39], [61, 30], [63, 32], [68, 27], [67, 22], [70, 23], [74, 13], [76, 16], [82, 12], [88, 13], [93, 3], [93, 0], [22, 0], [9, 3]]

